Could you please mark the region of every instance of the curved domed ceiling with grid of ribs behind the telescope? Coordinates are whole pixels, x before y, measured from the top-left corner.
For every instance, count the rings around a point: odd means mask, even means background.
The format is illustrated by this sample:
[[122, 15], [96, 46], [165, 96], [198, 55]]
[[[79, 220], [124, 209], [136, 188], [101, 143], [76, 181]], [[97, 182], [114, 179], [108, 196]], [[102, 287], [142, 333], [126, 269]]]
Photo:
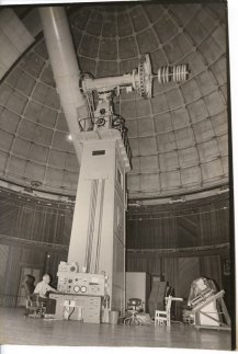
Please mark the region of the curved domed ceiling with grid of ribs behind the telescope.
[[[182, 83], [154, 80], [152, 99], [122, 92], [133, 170], [131, 198], [192, 193], [228, 181], [226, 11], [223, 3], [107, 4], [69, 10], [80, 68], [132, 72], [149, 53], [152, 71], [189, 64]], [[75, 195], [79, 165], [43, 36], [0, 84], [0, 179]]]

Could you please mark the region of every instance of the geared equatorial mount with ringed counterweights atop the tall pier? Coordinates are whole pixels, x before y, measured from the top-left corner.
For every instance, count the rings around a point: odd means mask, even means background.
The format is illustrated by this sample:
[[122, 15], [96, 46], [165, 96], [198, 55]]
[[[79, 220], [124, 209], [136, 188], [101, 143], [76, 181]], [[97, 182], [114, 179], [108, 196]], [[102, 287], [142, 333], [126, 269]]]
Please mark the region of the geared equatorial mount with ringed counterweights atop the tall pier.
[[136, 90], [141, 98], [150, 99], [154, 79], [158, 79], [158, 82], [162, 84], [181, 82], [188, 80], [189, 72], [189, 65], [182, 64], [161, 67], [155, 75], [150, 57], [146, 54], [132, 73], [98, 79], [87, 73], [83, 75], [80, 80], [80, 89], [87, 98], [90, 116], [79, 119], [81, 130], [95, 130], [100, 134], [101, 130], [117, 129], [126, 150], [129, 150], [125, 121], [114, 112], [113, 98], [120, 95], [122, 89], [126, 89], [127, 92]]

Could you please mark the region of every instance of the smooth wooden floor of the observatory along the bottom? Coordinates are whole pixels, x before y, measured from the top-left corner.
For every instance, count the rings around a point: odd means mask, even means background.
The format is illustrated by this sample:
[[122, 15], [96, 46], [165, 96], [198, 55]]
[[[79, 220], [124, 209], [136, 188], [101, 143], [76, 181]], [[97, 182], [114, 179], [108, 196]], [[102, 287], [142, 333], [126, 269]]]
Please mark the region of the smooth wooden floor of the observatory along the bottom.
[[91, 324], [24, 318], [24, 309], [0, 308], [0, 343], [75, 346], [145, 346], [230, 350], [230, 332], [196, 331], [172, 323], [151, 326]]

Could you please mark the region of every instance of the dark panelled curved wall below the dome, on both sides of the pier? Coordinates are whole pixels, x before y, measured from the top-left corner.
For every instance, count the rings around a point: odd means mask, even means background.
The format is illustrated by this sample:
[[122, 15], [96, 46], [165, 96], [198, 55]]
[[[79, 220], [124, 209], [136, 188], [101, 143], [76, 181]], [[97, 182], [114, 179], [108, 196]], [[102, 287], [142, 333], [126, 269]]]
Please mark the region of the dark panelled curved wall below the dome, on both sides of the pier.
[[[15, 306], [23, 267], [49, 272], [56, 282], [58, 263], [67, 260], [73, 204], [3, 189], [0, 197], [0, 305]], [[129, 207], [127, 271], [163, 275], [182, 297], [194, 277], [208, 276], [229, 295], [230, 238], [228, 194]]]

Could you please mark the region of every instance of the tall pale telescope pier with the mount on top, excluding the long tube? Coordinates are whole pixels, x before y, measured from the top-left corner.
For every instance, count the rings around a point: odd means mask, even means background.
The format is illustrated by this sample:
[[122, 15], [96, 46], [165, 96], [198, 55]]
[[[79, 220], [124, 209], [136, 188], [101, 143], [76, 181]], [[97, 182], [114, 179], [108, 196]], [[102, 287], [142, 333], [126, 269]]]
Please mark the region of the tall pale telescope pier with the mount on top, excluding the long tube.
[[131, 150], [125, 119], [114, 112], [113, 99], [123, 89], [150, 99], [154, 80], [166, 84], [188, 77], [188, 65], [162, 67], [152, 73], [147, 54], [131, 73], [80, 78], [90, 116], [78, 121], [83, 149], [68, 261], [77, 262], [87, 273], [106, 274], [110, 308], [120, 311], [125, 306], [126, 172], [131, 170]]

